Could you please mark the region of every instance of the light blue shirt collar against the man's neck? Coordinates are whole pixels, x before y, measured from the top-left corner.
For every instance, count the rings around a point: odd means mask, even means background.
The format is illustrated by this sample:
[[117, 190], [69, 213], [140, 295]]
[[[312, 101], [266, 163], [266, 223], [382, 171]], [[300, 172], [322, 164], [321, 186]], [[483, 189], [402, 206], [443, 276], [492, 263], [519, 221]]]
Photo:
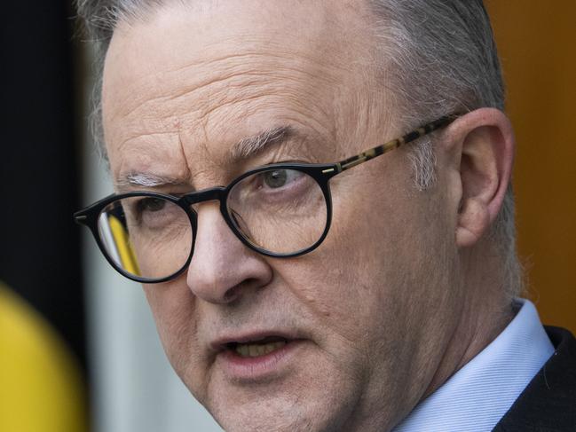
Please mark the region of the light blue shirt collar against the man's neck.
[[429, 397], [393, 432], [488, 432], [496, 426], [554, 353], [528, 300], [484, 350]]

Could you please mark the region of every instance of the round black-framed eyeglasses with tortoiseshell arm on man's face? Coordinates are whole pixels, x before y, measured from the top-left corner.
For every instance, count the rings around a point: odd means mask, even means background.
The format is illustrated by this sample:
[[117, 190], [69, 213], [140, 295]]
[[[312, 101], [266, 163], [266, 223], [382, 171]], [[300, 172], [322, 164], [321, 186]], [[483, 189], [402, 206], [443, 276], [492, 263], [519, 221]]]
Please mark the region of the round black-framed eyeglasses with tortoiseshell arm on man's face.
[[272, 257], [304, 255], [326, 238], [332, 220], [329, 180], [457, 118], [449, 115], [344, 161], [275, 163], [252, 169], [225, 187], [182, 196], [158, 192], [112, 194], [75, 213], [90, 228], [107, 261], [144, 283], [178, 277], [192, 260], [197, 232], [194, 205], [220, 202], [226, 224], [241, 242]]

